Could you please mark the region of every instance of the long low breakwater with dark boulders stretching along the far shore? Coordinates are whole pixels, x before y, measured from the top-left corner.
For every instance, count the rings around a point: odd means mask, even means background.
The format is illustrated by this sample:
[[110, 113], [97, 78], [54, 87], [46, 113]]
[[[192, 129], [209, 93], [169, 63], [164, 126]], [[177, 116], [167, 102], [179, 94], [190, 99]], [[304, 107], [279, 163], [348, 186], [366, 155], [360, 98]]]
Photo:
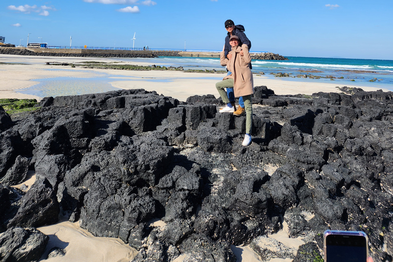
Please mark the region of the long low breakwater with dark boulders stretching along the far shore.
[[[0, 48], [0, 54], [35, 56], [76, 56], [76, 57], [220, 57], [220, 52], [155, 51], [155, 50], [96, 50], [96, 49], [49, 49], [49, 48]], [[256, 60], [288, 60], [273, 53], [250, 53]]]

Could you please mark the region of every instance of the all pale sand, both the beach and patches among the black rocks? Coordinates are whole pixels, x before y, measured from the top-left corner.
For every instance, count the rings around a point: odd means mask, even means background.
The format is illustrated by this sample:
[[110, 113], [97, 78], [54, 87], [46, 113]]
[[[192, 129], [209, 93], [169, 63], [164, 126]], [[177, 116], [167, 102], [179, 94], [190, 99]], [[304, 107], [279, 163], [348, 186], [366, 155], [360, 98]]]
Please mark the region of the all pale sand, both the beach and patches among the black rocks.
[[[185, 101], [189, 96], [213, 94], [219, 97], [215, 89], [215, 83], [220, 81], [225, 74], [206, 74], [206, 73], [186, 73], [179, 71], [124, 71], [124, 70], [100, 70], [100, 69], [83, 69], [71, 68], [70, 66], [47, 65], [47, 62], [59, 63], [78, 63], [82, 61], [103, 61], [105, 58], [77, 58], [77, 57], [26, 57], [0, 55], [0, 98], [35, 98], [42, 97], [20, 93], [20, 90], [29, 88], [37, 83], [37, 79], [56, 78], [56, 77], [73, 77], [73, 78], [91, 78], [102, 73], [110, 73], [114, 81], [110, 83], [114, 88], [119, 89], [145, 89], [147, 91], [156, 91], [165, 96], [177, 98]], [[123, 62], [133, 64], [132, 62]], [[148, 63], [138, 63], [138, 65], [151, 65]], [[56, 70], [48, 70], [56, 69]], [[110, 71], [110, 72], [109, 72]], [[154, 81], [152, 81], [154, 80]], [[264, 75], [254, 75], [254, 85], [266, 85], [277, 95], [311, 95], [317, 92], [337, 92], [337, 83], [324, 82], [305, 82], [291, 81], [286, 78], [274, 78]], [[351, 86], [356, 87], [356, 86]], [[376, 91], [371, 86], [361, 88], [365, 91]], [[388, 91], [388, 90], [384, 90]], [[27, 181], [29, 188], [34, 183], [35, 176], [32, 174], [32, 180]], [[20, 186], [20, 185], [18, 185]], [[165, 223], [152, 222], [154, 227], [165, 227]], [[80, 228], [79, 223], [64, 221], [63, 218], [55, 225], [49, 225], [38, 228], [41, 232], [50, 236], [50, 242], [41, 261], [130, 261], [136, 255], [137, 251], [124, 244], [120, 239], [95, 237], [88, 231]], [[279, 233], [269, 235], [282, 245], [297, 249], [302, 239], [289, 238], [288, 231], [284, 227]], [[66, 252], [64, 256], [45, 259], [53, 247], [61, 247]], [[248, 246], [235, 247], [232, 251], [237, 257], [237, 261], [262, 261], [258, 255]], [[292, 259], [273, 259], [272, 262], [289, 262]], [[182, 261], [179, 257], [176, 261]]]

